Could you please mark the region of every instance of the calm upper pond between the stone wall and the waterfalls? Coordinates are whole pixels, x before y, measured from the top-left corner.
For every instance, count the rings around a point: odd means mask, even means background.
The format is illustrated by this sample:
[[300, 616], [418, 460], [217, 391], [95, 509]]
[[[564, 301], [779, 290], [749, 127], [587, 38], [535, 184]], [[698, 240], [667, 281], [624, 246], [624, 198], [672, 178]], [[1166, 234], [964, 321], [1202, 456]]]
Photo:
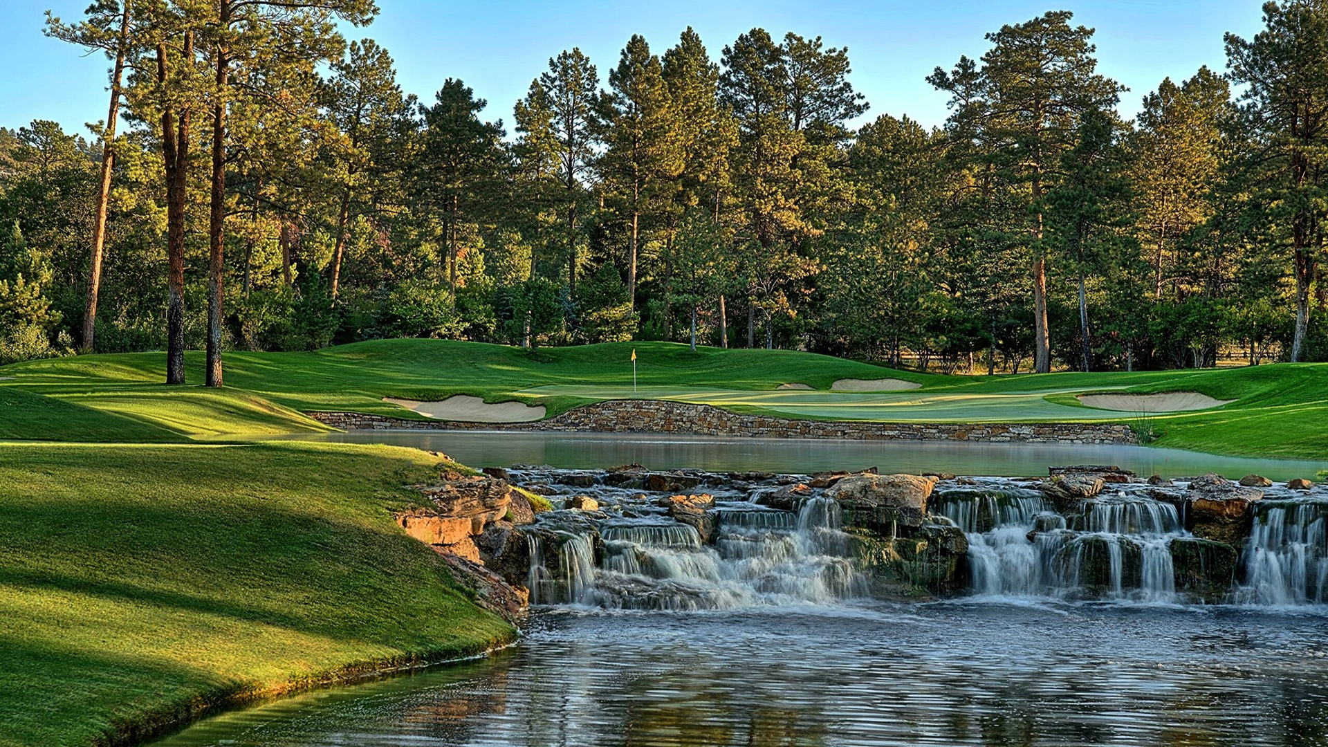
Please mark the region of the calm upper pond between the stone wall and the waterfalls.
[[1046, 475], [1053, 464], [1114, 464], [1137, 475], [1185, 477], [1218, 472], [1239, 479], [1251, 472], [1271, 480], [1313, 479], [1323, 461], [1236, 459], [1146, 447], [989, 444], [954, 441], [831, 441], [814, 439], [726, 439], [639, 433], [522, 433], [497, 431], [352, 431], [295, 436], [299, 440], [392, 444], [444, 452], [473, 467], [547, 464], [595, 469], [644, 464], [651, 469], [709, 472], [769, 471], [811, 473], [879, 467], [882, 472], [954, 475]]

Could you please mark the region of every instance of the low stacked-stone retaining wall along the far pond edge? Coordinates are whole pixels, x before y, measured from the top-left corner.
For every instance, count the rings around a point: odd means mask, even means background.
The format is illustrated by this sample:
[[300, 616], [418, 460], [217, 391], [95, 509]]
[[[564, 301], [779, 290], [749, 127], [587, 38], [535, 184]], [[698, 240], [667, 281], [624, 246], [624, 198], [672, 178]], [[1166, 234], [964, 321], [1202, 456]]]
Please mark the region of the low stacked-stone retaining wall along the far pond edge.
[[405, 420], [356, 412], [309, 412], [341, 428], [428, 431], [578, 431], [610, 433], [693, 433], [757, 439], [847, 439], [910, 441], [1024, 441], [1040, 444], [1135, 444], [1129, 425], [1105, 423], [869, 423], [789, 420], [740, 415], [706, 404], [661, 400], [608, 400], [570, 409], [537, 423], [449, 423]]

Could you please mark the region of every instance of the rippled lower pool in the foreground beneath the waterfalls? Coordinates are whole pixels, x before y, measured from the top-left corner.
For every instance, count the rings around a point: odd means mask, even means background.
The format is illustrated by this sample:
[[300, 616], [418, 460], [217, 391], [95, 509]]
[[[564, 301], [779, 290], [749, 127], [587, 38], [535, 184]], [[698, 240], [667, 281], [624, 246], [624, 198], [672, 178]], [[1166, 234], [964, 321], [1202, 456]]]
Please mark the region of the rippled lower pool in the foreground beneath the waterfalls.
[[1317, 746], [1328, 619], [871, 602], [537, 614], [491, 659], [224, 714], [159, 747]]

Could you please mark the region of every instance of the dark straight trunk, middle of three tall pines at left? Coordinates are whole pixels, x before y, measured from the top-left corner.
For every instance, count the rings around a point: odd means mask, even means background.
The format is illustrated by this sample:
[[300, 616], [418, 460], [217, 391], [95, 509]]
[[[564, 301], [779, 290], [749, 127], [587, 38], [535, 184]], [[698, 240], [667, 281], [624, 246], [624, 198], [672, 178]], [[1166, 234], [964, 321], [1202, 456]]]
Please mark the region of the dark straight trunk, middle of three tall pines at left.
[[[194, 60], [194, 35], [185, 32], [181, 58]], [[166, 43], [157, 45], [157, 81], [170, 78]], [[185, 186], [189, 177], [189, 108], [177, 122], [171, 102], [162, 102], [162, 160], [166, 170], [166, 383], [185, 383]]]

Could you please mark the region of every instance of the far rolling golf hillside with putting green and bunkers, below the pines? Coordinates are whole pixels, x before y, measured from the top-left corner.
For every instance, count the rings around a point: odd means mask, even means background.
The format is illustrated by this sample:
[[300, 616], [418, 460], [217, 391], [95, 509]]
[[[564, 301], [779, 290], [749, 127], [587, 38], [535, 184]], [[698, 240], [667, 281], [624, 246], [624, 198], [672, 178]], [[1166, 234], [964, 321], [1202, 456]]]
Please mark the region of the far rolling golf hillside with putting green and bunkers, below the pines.
[[[202, 355], [186, 363], [199, 381]], [[312, 411], [509, 423], [655, 399], [817, 420], [1127, 423], [1159, 445], [1232, 456], [1317, 457], [1328, 443], [1328, 364], [944, 376], [780, 350], [607, 343], [531, 352], [428, 339], [231, 352], [223, 389], [166, 387], [163, 364], [161, 354], [122, 354], [3, 367], [0, 437], [243, 439], [328, 431], [304, 415]]]

